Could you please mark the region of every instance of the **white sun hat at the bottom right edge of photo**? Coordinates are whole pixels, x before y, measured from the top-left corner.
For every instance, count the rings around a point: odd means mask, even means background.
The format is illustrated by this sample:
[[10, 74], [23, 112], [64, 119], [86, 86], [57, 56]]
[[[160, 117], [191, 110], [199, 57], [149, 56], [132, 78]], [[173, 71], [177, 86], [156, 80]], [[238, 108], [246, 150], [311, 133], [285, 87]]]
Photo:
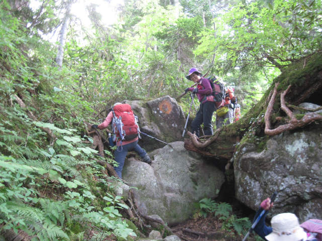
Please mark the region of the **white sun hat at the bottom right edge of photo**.
[[299, 241], [306, 240], [306, 232], [300, 227], [293, 213], [280, 213], [271, 220], [273, 231], [265, 236], [268, 241]]

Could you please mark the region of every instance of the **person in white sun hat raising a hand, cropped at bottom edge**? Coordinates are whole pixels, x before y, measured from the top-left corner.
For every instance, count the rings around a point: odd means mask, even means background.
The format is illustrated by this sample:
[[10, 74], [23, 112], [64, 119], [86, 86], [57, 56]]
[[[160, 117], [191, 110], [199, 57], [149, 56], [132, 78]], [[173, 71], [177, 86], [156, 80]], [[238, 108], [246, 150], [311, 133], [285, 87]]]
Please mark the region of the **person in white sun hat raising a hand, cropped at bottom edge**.
[[[273, 202], [268, 197], [261, 203], [261, 208], [257, 211], [254, 220], [259, 216], [262, 210], [269, 210], [273, 207]], [[302, 223], [293, 213], [280, 213], [272, 217], [271, 225], [265, 224], [266, 214], [262, 216], [254, 231], [264, 240], [268, 241], [321, 241], [319, 229], [322, 227], [322, 221], [318, 219], [309, 219]], [[313, 221], [312, 221], [313, 220]], [[319, 223], [318, 223], [319, 222]]]

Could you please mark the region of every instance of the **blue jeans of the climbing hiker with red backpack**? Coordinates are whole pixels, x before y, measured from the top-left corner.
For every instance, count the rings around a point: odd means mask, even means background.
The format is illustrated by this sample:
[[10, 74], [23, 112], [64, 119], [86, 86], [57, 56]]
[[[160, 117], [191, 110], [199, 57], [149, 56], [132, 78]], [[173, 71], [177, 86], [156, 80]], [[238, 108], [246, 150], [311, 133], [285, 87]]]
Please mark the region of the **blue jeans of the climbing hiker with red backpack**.
[[114, 170], [120, 178], [122, 178], [122, 170], [128, 151], [134, 150], [140, 157], [144, 157], [146, 155], [145, 150], [141, 148], [137, 142], [138, 141], [135, 141], [124, 146], [120, 146], [114, 152], [115, 161], [119, 164], [117, 167], [114, 167]]

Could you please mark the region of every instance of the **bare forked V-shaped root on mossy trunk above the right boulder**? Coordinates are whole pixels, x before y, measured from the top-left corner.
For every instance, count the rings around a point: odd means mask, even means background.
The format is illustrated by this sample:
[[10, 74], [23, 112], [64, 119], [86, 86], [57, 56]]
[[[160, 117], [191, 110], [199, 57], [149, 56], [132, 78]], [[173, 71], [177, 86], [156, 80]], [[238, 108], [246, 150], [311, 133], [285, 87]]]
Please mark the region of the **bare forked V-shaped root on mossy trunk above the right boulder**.
[[266, 113], [265, 113], [265, 134], [266, 135], [268, 135], [268, 136], [279, 135], [279, 134], [286, 132], [286, 131], [291, 131], [296, 128], [304, 127], [314, 121], [322, 120], [322, 115], [319, 113], [315, 113], [315, 112], [304, 114], [304, 116], [301, 119], [297, 119], [295, 117], [294, 113], [286, 106], [286, 103], [285, 103], [285, 95], [287, 94], [287, 92], [291, 88], [291, 85], [289, 85], [288, 88], [281, 93], [281, 108], [284, 110], [284, 112], [289, 117], [288, 124], [281, 125], [275, 129], [271, 129], [270, 117], [271, 117], [271, 113], [273, 111], [273, 105], [275, 103], [275, 97], [277, 94], [278, 84], [279, 83], [275, 84], [273, 94], [271, 96], [270, 102], [267, 106]]

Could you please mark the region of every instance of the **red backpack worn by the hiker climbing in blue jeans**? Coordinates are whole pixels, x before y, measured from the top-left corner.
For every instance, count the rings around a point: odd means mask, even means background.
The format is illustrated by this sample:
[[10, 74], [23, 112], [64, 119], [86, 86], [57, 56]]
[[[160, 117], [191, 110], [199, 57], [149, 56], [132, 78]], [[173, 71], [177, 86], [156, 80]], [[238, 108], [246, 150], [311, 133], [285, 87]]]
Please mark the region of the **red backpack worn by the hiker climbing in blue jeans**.
[[112, 111], [112, 128], [116, 141], [129, 141], [139, 136], [140, 129], [137, 125], [137, 117], [134, 115], [131, 105], [118, 104], [112, 107]]

